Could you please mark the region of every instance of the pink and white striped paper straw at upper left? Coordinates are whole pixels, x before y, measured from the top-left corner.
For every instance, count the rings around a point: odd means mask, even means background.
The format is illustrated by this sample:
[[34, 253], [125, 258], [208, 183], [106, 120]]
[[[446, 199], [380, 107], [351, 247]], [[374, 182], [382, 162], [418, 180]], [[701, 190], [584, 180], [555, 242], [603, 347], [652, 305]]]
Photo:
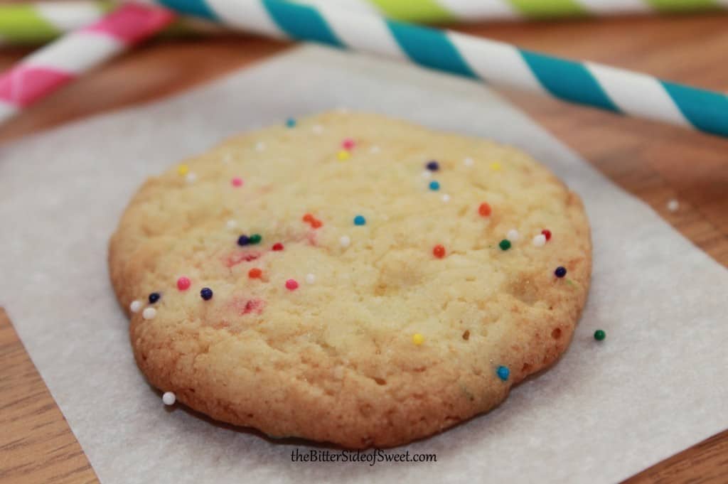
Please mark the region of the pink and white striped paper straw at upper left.
[[174, 19], [161, 7], [123, 4], [98, 22], [36, 50], [0, 74], [0, 123]]

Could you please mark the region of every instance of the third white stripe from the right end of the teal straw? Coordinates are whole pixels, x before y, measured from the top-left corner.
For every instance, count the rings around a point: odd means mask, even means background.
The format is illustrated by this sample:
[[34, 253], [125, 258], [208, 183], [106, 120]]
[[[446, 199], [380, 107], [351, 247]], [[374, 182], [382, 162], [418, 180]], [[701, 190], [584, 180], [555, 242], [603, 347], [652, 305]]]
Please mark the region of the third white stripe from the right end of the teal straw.
[[[331, 9], [333, 8], [333, 12]], [[346, 45], [355, 50], [375, 52], [379, 55], [406, 60], [407, 56], [392, 36], [387, 24], [374, 15], [360, 15], [342, 12], [339, 7], [320, 7], [321, 14], [329, 20], [333, 33]], [[333, 21], [335, 19], [335, 21]]]

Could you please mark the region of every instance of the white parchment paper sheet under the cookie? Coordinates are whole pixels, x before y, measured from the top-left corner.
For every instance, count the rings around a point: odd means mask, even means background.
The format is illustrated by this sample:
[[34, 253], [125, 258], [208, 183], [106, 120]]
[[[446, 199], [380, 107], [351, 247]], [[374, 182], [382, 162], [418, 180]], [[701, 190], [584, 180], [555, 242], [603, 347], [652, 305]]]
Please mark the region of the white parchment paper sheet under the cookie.
[[[571, 348], [488, 415], [399, 449], [436, 463], [294, 464], [303, 443], [167, 410], [108, 282], [108, 237], [144, 178], [337, 106], [520, 146], [582, 195], [593, 224], [593, 289]], [[106, 484], [614, 483], [728, 426], [728, 271], [480, 84], [306, 47], [1, 148], [0, 197], [0, 304]]]

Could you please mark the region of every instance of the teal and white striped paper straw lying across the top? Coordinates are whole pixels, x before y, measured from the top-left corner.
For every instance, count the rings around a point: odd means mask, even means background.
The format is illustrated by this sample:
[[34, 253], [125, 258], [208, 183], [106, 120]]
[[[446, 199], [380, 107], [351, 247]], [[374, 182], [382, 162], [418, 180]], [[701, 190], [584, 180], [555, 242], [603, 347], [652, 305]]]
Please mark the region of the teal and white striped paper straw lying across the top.
[[[376, 15], [285, 0], [158, 0], [233, 28], [405, 60], [571, 103], [728, 136], [728, 96]], [[312, 66], [315, 68], [315, 66]]]

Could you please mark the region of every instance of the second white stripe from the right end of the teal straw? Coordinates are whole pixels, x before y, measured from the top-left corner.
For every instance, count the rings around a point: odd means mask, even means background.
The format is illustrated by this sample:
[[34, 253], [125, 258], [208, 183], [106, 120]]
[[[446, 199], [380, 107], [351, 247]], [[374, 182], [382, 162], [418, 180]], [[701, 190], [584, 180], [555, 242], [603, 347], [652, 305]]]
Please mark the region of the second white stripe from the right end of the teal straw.
[[513, 45], [472, 38], [460, 33], [448, 32], [447, 35], [472, 71], [482, 79], [495, 85], [547, 94]]

